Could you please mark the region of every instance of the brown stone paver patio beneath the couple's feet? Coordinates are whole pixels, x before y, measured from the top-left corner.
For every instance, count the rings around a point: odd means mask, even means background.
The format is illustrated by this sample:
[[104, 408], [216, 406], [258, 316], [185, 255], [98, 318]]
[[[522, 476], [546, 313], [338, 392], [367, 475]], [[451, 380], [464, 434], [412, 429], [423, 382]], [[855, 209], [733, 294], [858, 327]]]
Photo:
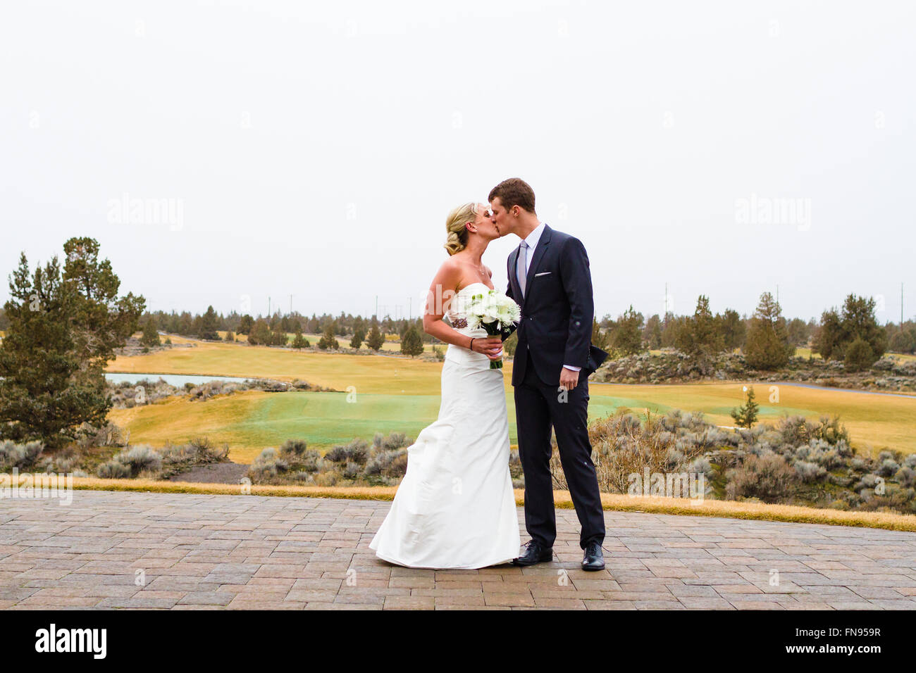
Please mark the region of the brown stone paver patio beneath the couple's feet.
[[[0, 608], [916, 609], [916, 533], [605, 512], [607, 570], [411, 570], [368, 548], [389, 504], [77, 491], [0, 500]], [[518, 510], [522, 539], [523, 516]]]

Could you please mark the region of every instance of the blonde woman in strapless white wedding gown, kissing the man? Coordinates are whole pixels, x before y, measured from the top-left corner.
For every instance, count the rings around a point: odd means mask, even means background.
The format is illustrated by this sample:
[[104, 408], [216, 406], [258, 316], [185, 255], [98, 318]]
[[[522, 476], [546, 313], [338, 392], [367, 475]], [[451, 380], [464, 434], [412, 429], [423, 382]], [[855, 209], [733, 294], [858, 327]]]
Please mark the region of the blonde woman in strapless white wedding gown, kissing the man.
[[[463, 309], [493, 289], [481, 261], [499, 238], [483, 203], [465, 203], [446, 221], [449, 258], [432, 279], [423, 330], [449, 344], [439, 418], [408, 449], [407, 473], [369, 548], [410, 568], [484, 568], [518, 556], [502, 341], [468, 326]], [[448, 316], [446, 324], [443, 316]]]

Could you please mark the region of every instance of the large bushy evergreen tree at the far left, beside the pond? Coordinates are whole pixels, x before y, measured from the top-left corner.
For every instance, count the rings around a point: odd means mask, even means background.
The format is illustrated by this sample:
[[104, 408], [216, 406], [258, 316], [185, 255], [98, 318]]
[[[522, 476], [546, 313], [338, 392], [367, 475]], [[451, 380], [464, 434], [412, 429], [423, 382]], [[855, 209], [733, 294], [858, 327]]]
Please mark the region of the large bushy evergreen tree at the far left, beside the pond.
[[58, 257], [29, 276], [26, 255], [10, 277], [0, 344], [0, 437], [59, 447], [82, 423], [104, 424], [111, 407], [104, 365], [136, 331], [145, 299], [118, 298], [120, 280], [98, 261], [91, 238], [64, 244]]

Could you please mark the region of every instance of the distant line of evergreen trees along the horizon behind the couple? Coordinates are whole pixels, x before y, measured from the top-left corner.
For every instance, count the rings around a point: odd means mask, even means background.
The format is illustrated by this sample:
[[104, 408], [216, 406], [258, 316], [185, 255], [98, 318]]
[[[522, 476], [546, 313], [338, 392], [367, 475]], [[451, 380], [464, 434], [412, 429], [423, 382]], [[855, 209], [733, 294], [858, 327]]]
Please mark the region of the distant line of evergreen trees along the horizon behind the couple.
[[[0, 316], [0, 324], [2, 319]], [[214, 341], [221, 338], [220, 332], [227, 332], [224, 338], [228, 341], [234, 341], [235, 334], [245, 334], [253, 345], [307, 348], [311, 342], [304, 335], [317, 334], [321, 336], [316, 345], [322, 349], [337, 349], [343, 342], [351, 348], [365, 344], [379, 350], [387, 335], [397, 335], [403, 342], [411, 329], [417, 332], [420, 343], [438, 343], [423, 331], [421, 318], [378, 320], [376, 316], [364, 318], [343, 311], [336, 316], [313, 313], [311, 317], [298, 311], [276, 311], [270, 316], [233, 311], [224, 315], [209, 306], [202, 314], [146, 313], [141, 325], [147, 345], [155, 345], [155, 331]], [[408, 339], [410, 350], [417, 351], [413, 335]], [[740, 351], [747, 363], [758, 369], [779, 368], [796, 348], [811, 347], [824, 359], [841, 360], [855, 369], [873, 364], [888, 351], [916, 353], [916, 322], [908, 320], [902, 328], [892, 322], [881, 326], [875, 317], [874, 299], [855, 294], [846, 297], [841, 309], [823, 311], [820, 321], [784, 318], [769, 292], [760, 296], [751, 316], [742, 316], [735, 309], [713, 314], [709, 298], [701, 295], [692, 315], [656, 313], [647, 320], [632, 306], [616, 319], [605, 315], [594, 320], [592, 341], [616, 356], [674, 348], [700, 363], [711, 363], [719, 353]]]

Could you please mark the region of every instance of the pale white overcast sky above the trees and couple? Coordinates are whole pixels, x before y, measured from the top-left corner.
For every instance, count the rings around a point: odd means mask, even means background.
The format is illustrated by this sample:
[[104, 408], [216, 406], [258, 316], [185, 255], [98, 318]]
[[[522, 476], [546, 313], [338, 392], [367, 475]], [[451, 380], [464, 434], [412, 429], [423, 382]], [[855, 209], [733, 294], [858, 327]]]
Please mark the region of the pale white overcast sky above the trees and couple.
[[518, 176], [599, 317], [916, 313], [912, 3], [5, 3], [0, 54], [2, 300], [89, 235], [152, 310], [417, 315]]

